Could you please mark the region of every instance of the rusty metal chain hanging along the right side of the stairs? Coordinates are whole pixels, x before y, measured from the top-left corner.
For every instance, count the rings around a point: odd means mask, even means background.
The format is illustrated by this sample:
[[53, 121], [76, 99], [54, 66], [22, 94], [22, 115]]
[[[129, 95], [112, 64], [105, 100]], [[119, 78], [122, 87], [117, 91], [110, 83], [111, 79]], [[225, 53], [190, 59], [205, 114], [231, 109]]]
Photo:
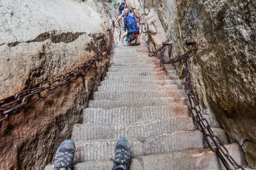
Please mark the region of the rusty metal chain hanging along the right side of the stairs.
[[[194, 56], [195, 52], [198, 49], [197, 41], [195, 39], [186, 40], [186, 45], [192, 45], [192, 48], [189, 51], [187, 51], [185, 54], [181, 55], [180, 57], [170, 59], [170, 61], [168, 62], [166, 62], [163, 59], [163, 54], [164, 54], [164, 51], [166, 50], [167, 45], [170, 45], [172, 49], [172, 44], [169, 44], [167, 41], [163, 42], [162, 44], [163, 44], [162, 46], [163, 48], [162, 47], [160, 48], [160, 62], [162, 64], [173, 64], [176, 62], [183, 61], [183, 65], [186, 67], [185, 92], [189, 99], [191, 114], [194, 122], [196, 122], [199, 125], [202, 133], [204, 133], [204, 139], [207, 142], [210, 150], [216, 153], [216, 155], [221, 160], [221, 162], [223, 163], [224, 167], [227, 170], [231, 170], [231, 167], [228, 162], [230, 162], [230, 164], [232, 164], [233, 167], [235, 167], [235, 170], [240, 168], [244, 170], [244, 168], [241, 165], [237, 164], [236, 161], [233, 159], [233, 157], [230, 156], [230, 153], [227, 150], [227, 148], [220, 141], [218, 136], [214, 134], [207, 119], [205, 119], [201, 114], [200, 105], [196, 102], [196, 97], [192, 88], [192, 83], [190, 78], [189, 66], [191, 64], [191, 58]], [[215, 147], [212, 147], [211, 143], [214, 144]]]

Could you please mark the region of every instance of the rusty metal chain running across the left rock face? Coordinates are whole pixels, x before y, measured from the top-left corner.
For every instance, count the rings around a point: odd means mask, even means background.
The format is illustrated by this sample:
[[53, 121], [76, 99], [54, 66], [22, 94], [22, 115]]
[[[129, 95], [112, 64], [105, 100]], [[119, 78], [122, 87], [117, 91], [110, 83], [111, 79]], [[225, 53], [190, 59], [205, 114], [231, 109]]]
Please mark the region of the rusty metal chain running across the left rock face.
[[[84, 62], [81, 66], [74, 68], [73, 70], [55, 77], [52, 81], [42, 82], [40, 85], [33, 89], [27, 89], [21, 91], [15, 95], [8, 96], [4, 99], [0, 99], [0, 122], [8, 119], [8, 116], [13, 111], [16, 111], [20, 108], [27, 108], [33, 105], [35, 102], [38, 102], [40, 99], [44, 99], [47, 96], [51, 95], [56, 88], [63, 87], [69, 82], [72, 82], [84, 71], [91, 68], [94, 62], [100, 57], [102, 51], [108, 51], [112, 49], [114, 42], [113, 31], [114, 31], [114, 21], [112, 21], [112, 29], [107, 30], [109, 32], [109, 43], [104, 45], [99, 51], [94, 55], [89, 61]], [[102, 34], [99, 34], [102, 38], [102, 43], [105, 43], [105, 40], [102, 37]], [[94, 39], [97, 40], [97, 39]]]

